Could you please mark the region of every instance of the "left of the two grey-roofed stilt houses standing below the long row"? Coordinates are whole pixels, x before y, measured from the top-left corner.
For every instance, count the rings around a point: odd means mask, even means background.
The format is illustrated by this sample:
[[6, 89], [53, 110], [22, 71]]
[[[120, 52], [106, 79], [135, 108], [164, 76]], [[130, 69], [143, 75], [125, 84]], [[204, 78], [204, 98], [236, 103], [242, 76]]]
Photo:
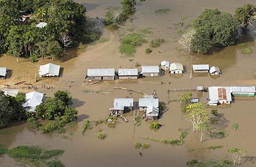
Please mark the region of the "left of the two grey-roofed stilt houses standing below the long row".
[[112, 113], [123, 114], [134, 110], [134, 99], [132, 98], [115, 98], [113, 108], [110, 108]]

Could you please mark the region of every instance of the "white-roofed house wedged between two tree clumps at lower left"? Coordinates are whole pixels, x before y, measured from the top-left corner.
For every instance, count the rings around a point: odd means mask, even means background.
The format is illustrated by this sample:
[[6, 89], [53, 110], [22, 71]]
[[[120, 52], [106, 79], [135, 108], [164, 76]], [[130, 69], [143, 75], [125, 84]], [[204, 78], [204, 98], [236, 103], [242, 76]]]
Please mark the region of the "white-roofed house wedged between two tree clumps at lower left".
[[22, 105], [29, 112], [34, 112], [37, 105], [43, 102], [43, 93], [31, 91], [26, 93], [26, 102]]

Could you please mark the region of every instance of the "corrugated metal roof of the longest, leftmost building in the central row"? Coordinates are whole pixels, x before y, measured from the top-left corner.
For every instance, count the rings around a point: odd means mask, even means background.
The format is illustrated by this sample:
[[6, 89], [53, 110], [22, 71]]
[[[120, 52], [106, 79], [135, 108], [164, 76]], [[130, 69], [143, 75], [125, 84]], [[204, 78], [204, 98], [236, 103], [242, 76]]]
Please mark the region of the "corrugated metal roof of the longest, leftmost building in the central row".
[[115, 76], [114, 68], [89, 68], [87, 69], [88, 76]]

